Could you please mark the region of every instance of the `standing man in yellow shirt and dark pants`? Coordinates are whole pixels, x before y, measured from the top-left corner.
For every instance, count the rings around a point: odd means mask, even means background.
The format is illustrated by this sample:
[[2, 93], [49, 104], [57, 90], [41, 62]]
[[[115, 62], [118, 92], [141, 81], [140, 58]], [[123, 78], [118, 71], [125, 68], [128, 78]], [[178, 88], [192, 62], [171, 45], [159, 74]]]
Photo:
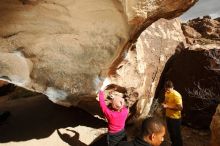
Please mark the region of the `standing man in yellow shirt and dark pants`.
[[183, 142], [180, 129], [181, 110], [183, 109], [182, 96], [173, 88], [174, 86], [171, 81], [165, 83], [165, 101], [163, 107], [166, 110], [166, 122], [172, 142], [171, 146], [182, 146]]

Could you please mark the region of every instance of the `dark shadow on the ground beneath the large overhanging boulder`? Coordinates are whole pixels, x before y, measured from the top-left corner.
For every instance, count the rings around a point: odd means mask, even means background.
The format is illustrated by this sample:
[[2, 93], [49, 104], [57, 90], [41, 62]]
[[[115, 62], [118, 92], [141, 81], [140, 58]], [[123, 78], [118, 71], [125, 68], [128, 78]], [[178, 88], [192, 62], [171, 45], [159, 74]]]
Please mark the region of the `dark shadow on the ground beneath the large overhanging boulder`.
[[0, 111], [11, 113], [0, 123], [0, 143], [46, 138], [56, 129], [78, 125], [106, 127], [103, 120], [79, 108], [54, 104], [44, 95], [0, 103]]

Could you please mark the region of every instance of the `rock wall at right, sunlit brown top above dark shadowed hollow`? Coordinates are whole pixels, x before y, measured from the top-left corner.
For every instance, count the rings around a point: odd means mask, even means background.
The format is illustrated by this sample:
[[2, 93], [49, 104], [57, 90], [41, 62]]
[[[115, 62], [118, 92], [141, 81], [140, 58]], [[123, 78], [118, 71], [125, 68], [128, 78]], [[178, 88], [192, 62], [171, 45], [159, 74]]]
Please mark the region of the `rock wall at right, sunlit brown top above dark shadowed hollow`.
[[183, 122], [194, 128], [209, 127], [220, 100], [219, 27], [219, 20], [209, 16], [182, 24], [188, 50], [168, 61], [156, 93], [162, 97], [164, 81], [171, 79], [183, 95]]

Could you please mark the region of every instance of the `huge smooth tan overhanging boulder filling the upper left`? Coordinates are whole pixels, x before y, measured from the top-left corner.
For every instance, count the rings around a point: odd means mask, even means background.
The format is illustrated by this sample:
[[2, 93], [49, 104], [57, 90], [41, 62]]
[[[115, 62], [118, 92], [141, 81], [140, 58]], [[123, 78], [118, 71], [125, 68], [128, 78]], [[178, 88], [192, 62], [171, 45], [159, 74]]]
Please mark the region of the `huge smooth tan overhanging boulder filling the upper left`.
[[111, 65], [113, 60], [147, 26], [179, 16], [195, 2], [1, 0], [0, 76], [56, 103], [76, 105], [95, 94], [108, 68], [121, 63]]

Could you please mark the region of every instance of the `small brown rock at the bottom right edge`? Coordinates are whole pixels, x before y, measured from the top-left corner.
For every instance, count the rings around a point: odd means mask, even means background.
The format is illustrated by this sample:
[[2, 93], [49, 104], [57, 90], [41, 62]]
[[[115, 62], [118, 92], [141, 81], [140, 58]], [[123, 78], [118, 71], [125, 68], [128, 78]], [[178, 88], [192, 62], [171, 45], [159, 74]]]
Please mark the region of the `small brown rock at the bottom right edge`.
[[220, 105], [218, 105], [215, 115], [212, 118], [211, 123], [211, 131], [212, 131], [212, 139], [211, 145], [212, 146], [219, 146], [220, 145]]

